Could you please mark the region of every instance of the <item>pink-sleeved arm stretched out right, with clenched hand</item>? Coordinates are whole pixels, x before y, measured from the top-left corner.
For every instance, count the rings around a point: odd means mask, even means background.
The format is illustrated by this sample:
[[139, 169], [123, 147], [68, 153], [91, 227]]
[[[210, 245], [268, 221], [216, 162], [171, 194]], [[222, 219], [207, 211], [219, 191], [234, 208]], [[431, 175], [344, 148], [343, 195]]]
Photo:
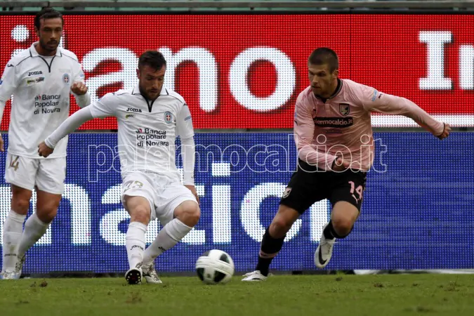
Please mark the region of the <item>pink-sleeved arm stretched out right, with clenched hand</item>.
[[449, 124], [437, 121], [421, 107], [406, 98], [381, 93], [374, 88], [363, 85], [360, 85], [360, 93], [366, 110], [384, 114], [403, 115], [416, 121], [416, 124], [437, 138], [443, 139], [449, 136], [451, 131]]

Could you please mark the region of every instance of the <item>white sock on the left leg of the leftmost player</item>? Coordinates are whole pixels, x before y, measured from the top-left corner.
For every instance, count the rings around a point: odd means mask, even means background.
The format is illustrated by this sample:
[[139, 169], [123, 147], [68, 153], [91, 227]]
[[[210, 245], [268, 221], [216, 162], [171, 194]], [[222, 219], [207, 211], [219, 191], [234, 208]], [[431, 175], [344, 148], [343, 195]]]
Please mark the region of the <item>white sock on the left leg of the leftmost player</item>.
[[18, 258], [18, 244], [20, 244], [25, 218], [25, 215], [20, 215], [13, 210], [10, 210], [8, 216], [6, 216], [2, 247], [2, 271], [15, 270], [15, 264]]

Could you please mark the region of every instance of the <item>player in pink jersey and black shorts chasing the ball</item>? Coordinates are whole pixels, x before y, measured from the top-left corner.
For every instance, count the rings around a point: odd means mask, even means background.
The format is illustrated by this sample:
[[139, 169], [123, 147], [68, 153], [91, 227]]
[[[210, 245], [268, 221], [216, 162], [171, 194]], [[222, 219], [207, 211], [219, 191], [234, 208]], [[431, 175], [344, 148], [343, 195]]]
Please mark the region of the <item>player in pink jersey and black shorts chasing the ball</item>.
[[449, 124], [436, 121], [405, 98], [338, 78], [338, 56], [317, 48], [308, 58], [310, 86], [296, 100], [294, 134], [298, 168], [265, 230], [254, 272], [242, 281], [263, 281], [293, 223], [315, 202], [329, 199], [331, 220], [322, 232], [315, 265], [324, 268], [336, 239], [347, 237], [360, 214], [367, 171], [374, 160], [371, 112], [404, 115], [440, 140]]

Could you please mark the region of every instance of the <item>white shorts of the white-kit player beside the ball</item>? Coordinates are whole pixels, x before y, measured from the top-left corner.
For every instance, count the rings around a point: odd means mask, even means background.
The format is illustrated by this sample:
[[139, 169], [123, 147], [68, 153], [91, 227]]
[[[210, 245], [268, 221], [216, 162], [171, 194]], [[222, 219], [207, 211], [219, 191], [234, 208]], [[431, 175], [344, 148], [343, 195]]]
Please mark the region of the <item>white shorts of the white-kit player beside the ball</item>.
[[125, 176], [121, 185], [121, 202], [124, 197], [145, 197], [150, 202], [150, 220], [158, 218], [162, 226], [173, 219], [174, 209], [185, 201], [197, 203], [191, 190], [178, 180], [156, 173], [135, 171]]

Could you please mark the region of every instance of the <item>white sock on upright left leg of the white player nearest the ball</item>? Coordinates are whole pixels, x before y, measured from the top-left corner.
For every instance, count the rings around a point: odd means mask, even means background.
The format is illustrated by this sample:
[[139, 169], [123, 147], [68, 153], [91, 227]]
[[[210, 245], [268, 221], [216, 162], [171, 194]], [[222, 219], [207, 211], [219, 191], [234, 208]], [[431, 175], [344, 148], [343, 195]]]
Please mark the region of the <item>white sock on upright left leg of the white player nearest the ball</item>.
[[143, 262], [143, 251], [145, 250], [145, 233], [147, 226], [139, 222], [131, 222], [126, 231], [125, 246], [129, 257], [130, 268], [136, 268]]

